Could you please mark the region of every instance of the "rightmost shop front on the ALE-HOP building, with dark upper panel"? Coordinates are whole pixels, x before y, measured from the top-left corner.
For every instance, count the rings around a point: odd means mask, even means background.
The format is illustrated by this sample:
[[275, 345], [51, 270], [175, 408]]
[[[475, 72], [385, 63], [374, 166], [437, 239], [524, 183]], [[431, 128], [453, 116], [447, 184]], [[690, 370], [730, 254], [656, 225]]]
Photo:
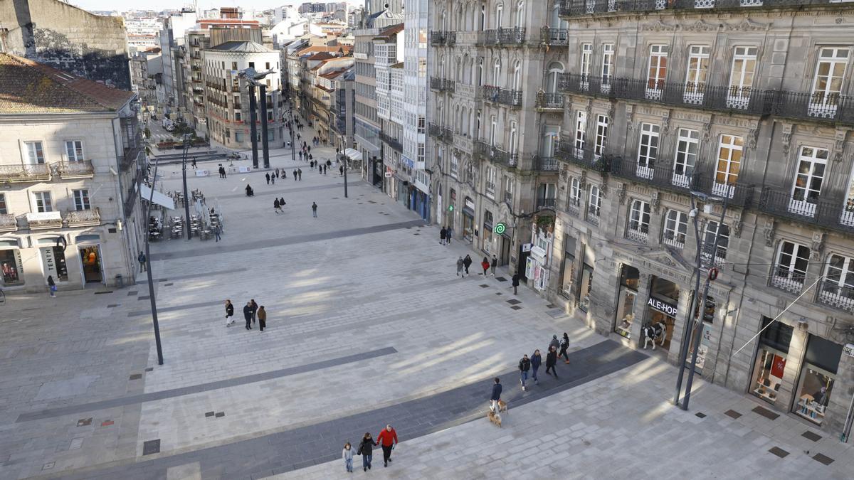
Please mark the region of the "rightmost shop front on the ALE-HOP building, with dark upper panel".
[[841, 354], [842, 345], [815, 335], [809, 336], [795, 390], [794, 413], [815, 424], [822, 424], [830, 395], [834, 393]]

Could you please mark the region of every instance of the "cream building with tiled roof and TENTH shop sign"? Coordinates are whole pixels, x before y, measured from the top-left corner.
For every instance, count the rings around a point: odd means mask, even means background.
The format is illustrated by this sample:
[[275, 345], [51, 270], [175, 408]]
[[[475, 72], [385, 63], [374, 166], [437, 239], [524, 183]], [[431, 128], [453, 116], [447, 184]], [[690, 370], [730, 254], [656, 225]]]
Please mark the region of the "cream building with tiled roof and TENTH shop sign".
[[0, 285], [133, 282], [147, 229], [135, 96], [0, 53]]

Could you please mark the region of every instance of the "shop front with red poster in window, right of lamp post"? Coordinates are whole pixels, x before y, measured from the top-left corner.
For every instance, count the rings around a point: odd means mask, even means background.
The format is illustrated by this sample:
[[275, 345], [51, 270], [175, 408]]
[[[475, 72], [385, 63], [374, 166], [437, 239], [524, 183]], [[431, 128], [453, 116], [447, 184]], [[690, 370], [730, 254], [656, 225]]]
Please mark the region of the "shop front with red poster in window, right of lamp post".
[[783, 372], [786, 371], [789, 343], [792, 342], [794, 329], [782, 322], [763, 317], [760, 331], [762, 333], [759, 335], [750, 391], [764, 401], [774, 404], [783, 384]]

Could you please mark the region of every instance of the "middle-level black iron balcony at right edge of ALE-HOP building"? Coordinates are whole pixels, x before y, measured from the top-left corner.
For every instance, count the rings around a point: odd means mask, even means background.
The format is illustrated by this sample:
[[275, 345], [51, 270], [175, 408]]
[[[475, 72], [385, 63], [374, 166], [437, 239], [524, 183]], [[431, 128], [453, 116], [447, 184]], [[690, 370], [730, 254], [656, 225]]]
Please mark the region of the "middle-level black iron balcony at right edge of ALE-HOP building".
[[854, 232], [854, 199], [837, 201], [795, 197], [788, 190], [762, 189], [759, 210], [809, 225], [820, 225], [838, 231]]

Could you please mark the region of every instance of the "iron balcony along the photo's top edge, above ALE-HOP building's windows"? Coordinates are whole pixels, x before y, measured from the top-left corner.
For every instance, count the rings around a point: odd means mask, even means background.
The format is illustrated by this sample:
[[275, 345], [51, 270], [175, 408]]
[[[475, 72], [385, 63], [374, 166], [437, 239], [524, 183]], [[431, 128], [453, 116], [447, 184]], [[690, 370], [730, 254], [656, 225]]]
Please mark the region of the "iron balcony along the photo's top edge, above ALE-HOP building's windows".
[[825, 5], [833, 0], [564, 0], [561, 16], [596, 15], [653, 10], [709, 10]]

